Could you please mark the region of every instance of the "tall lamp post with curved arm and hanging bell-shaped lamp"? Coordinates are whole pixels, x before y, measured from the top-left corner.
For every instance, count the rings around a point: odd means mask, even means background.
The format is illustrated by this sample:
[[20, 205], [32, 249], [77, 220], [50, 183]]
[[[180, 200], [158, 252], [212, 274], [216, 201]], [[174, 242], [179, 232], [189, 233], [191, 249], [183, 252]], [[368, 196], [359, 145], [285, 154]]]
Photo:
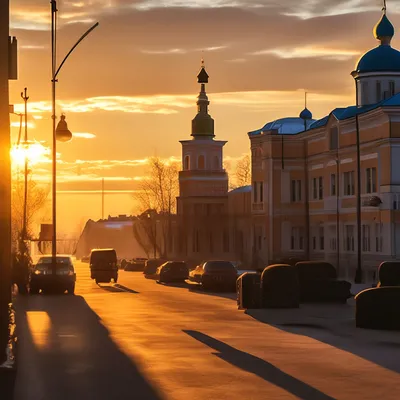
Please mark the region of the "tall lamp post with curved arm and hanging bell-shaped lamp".
[[53, 150], [52, 150], [52, 246], [51, 255], [53, 258], [53, 268], [56, 265], [57, 255], [57, 207], [56, 207], [56, 185], [57, 185], [57, 140], [61, 142], [68, 142], [72, 139], [72, 133], [68, 130], [67, 122], [65, 121], [65, 115], [61, 115], [60, 121], [56, 127], [56, 83], [58, 82], [57, 77], [65, 61], [79, 45], [79, 43], [87, 36], [93, 29], [95, 29], [99, 23], [96, 22], [91, 28], [89, 28], [72, 46], [71, 50], [64, 57], [60, 65], [57, 67], [57, 2], [56, 0], [50, 0], [51, 4], [51, 88], [52, 88], [52, 122], [53, 122]]

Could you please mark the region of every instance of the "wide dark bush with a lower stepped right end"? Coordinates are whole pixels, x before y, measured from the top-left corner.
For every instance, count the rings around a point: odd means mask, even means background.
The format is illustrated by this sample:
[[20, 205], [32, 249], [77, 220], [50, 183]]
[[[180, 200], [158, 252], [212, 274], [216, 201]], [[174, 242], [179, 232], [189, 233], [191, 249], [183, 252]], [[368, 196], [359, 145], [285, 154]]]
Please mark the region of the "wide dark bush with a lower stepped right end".
[[351, 283], [336, 279], [335, 267], [323, 261], [302, 261], [296, 264], [300, 283], [300, 302], [346, 303], [351, 297]]

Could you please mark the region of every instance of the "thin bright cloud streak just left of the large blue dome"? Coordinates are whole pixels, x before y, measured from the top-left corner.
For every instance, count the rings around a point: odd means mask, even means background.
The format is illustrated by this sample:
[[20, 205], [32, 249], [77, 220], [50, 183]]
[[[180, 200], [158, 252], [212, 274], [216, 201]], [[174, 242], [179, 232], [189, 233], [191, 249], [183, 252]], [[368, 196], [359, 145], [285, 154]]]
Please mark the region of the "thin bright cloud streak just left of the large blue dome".
[[253, 56], [274, 55], [283, 59], [290, 58], [325, 58], [333, 60], [351, 60], [359, 56], [359, 50], [332, 49], [327, 47], [304, 46], [295, 48], [276, 48], [250, 53]]

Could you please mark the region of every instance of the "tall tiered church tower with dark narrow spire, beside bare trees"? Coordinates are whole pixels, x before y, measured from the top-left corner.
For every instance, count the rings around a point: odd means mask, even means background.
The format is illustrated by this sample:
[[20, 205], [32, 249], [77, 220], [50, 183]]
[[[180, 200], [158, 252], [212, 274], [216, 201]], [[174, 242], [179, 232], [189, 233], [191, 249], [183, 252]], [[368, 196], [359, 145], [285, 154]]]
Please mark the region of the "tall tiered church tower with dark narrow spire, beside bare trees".
[[[223, 168], [226, 141], [215, 140], [214, 120], [208, 113], [208, 83], [202, 60], [197, 82], [197, 115], [192, 120], [192, 139], [182, 140], [177, 211], [180, 217], [181, 254], [189, 259], [221, 258], [229, 252], [224, 231], [228, 202], [228, 175]], [[226, 236], [228, 235], [228, 236]]]

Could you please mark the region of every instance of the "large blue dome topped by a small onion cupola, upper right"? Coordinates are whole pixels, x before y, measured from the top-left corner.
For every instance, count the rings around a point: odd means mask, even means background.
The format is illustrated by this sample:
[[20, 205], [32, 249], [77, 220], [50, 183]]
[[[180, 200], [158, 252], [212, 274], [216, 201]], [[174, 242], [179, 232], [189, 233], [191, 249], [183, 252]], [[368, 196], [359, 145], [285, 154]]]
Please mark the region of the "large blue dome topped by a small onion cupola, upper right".
[[375, 25], [374, 36], [381, 44], [365, 53], [357, 62], [356, 71], [400, 72], [400, 52], [390, 46], [394, 27], [386, 16], [386, 10]]

